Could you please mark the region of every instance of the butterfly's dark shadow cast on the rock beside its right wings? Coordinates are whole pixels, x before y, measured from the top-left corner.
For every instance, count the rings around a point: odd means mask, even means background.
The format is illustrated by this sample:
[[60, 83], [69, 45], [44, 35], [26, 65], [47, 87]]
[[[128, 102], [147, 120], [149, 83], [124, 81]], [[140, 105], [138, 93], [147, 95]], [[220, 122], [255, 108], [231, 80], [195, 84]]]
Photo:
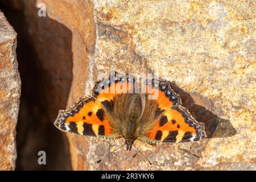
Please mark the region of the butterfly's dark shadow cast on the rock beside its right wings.
[[172, 89], [181, 97], [182, 105], [186, 107], [192, 116], [205, 124], [207, 138], [225, 138], [237, 134], [232, 123], [227, 119], [218, 117], [213, 102], [200, 94], [189, 94], [180, 89], [175, 83], [171, 83]]

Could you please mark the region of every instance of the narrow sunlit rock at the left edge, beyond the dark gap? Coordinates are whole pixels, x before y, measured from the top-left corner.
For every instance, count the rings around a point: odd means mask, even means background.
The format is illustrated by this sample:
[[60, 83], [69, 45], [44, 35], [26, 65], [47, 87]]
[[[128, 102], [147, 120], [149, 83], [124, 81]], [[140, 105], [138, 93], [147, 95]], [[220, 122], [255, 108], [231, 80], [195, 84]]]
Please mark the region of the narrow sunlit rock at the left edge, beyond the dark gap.
[[16, 32], [0, 11], [0, 170], [14, 170], [20, 77], [16, 60]]

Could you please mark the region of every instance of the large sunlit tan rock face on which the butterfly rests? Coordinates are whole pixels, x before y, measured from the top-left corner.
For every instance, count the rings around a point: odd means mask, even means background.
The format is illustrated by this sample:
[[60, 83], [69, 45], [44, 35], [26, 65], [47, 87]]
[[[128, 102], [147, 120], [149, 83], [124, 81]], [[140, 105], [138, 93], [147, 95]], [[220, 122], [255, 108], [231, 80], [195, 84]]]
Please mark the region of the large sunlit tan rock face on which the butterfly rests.
[[67, 106], [90, 94], [110, 69], [155, 73], [175, 81], [183, 105], [209, 135], [202, 142], [156, 147], [136, 142], [150, 166], [125, 148], [96, 164], [123, 140], [68, 134], [73, 169], [256, 169], [254, 2], [40, 2], [50, 19], [72, 31]]

